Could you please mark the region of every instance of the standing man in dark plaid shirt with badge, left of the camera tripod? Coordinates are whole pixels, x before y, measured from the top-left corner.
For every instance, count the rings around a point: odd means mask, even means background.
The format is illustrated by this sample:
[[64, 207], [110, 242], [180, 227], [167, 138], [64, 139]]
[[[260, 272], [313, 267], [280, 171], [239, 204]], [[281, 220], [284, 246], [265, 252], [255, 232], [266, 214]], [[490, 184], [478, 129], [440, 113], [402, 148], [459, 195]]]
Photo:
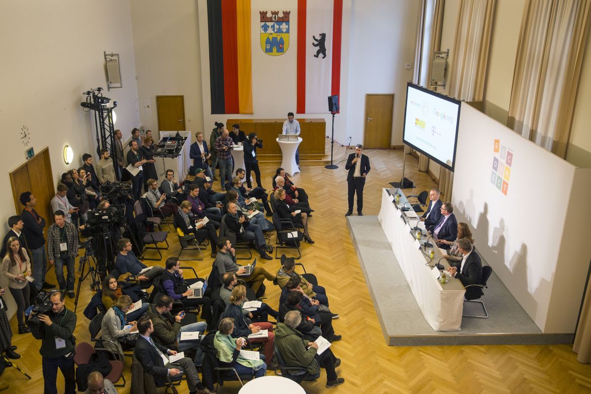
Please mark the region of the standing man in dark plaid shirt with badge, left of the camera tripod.
[[[64, 211], [54, 213], [56, 223], [47, 230], [47, 252], [49, 263], [56, 267], [57, 283], [60, 291], [68, 297], [74, 298], [74, 258], [78, 255], [80, 239], [78, 230], [72, 223], [66, 222]], [[64, 265], [67, 270], [67, 282], [64, 279]]]

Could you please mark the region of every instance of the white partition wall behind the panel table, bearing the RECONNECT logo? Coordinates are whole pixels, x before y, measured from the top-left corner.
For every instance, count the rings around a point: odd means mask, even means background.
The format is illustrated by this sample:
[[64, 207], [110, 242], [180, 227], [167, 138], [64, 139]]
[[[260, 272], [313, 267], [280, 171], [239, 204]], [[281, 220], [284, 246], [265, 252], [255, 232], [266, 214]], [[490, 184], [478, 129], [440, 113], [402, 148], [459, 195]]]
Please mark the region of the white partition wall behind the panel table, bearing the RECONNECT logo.
[[[591, 259], [581, 247], [591, 212], [576, 207], [586, 201], [591, 171], [466, 103], [461, 113], [454, 213], [474, 229], [476, 248], [540, 330], [573, 333]], [[490, 181], [495, 139], [514, 155], [506, 196]]]

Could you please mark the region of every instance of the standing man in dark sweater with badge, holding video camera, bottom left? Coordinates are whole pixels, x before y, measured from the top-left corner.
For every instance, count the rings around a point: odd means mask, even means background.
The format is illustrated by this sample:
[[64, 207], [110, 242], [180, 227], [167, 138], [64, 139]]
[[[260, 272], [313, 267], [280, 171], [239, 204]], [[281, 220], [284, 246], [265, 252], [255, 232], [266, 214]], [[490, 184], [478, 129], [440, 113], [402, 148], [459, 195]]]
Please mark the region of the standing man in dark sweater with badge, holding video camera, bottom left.
[[[63, 219], [63, 216], [62, 216]], [[64, 376], [66, 394], [76, 393], [74, 380], [74, 347], [76, 338], [76, 314], [66, 309], [64, 294], [53, 292], [50, 297], [51, 310], [47, 313], [29, 316], [31, 333], [35, 339], [41, 340], [41, 365], [43, 367], [44, 392], [57, 394], [57, 369]]]

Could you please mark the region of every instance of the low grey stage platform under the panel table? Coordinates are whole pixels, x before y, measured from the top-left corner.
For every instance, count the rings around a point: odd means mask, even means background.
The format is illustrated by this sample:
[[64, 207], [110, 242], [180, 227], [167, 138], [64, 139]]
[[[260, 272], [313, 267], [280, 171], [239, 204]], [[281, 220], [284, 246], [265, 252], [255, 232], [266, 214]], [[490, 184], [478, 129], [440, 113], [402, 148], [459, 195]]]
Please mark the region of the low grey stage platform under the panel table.
[[[378, 217], [349, 216], [347, 226], [389, 346], [572, 343], [572, 333], [543, 334], [494, 272], [481, 298], [488, 319], [464, 317], [460, 331], [434, 331], [414, 299]], [[465, 306], [465, 314], [478, 312], [472, 308], [480, 306]]]

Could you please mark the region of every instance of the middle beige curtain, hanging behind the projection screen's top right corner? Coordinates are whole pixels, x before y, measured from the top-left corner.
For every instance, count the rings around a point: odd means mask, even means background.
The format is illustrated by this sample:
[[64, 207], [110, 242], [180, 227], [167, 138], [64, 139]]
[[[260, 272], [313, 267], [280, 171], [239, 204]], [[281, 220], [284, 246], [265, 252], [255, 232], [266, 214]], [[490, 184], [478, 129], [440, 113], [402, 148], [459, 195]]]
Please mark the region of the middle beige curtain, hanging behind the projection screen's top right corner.
[[[447, 95], [466, 101], [482, 101], [491, 45], [495, 0], [462, 0], [456, 25]], [[453, 173], [441, 167], [439, 190], [452, 200]]]

